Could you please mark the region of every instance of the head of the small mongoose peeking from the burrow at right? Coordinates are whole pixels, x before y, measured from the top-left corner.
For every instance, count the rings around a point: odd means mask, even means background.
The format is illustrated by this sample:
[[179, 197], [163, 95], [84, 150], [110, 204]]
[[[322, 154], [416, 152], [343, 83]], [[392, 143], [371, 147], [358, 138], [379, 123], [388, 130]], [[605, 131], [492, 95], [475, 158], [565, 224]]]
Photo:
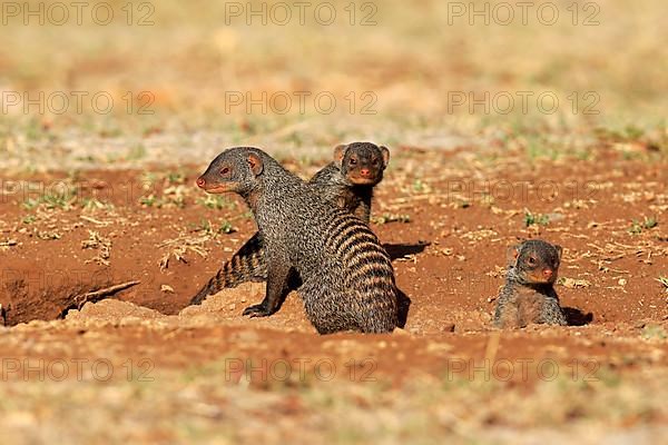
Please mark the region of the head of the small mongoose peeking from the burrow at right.
[[561, 246], [530, 239], [508, 249], [509, 266], [522, 284], [552, 284], [561, 261]]

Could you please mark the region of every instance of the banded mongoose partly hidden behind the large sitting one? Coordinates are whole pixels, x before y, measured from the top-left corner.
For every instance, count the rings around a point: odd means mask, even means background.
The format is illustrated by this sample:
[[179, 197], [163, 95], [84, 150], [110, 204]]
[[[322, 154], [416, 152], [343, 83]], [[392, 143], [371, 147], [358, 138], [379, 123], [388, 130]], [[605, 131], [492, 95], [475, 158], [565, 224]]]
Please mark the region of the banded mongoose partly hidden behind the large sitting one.
[[[371, 142], [340, 145], [334, 148], [334, 160], [317, 171], [308, 185], [325, 200], [357, 215], [369, 225], [373, 188], [383, 180], [389, 161], [386, 147]], [[264, 281], [266, 277], [263, 243], [259, 233], [255, 233], [191, 298], [190, 305], [199, 305], [224, 288]], [[291, 287], [296, 285], [298, 283]]]

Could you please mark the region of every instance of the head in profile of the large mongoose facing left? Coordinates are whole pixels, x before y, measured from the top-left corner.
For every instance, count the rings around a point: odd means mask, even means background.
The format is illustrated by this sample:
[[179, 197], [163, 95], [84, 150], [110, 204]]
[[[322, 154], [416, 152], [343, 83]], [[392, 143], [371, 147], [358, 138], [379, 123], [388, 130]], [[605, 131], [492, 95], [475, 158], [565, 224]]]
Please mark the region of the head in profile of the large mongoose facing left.
[[268, 155], [252, 147], [235, 147], [225, 150], [197, 178], [197, 187], [208, 194], [247, 195], [257, 187], [266, 158]]

